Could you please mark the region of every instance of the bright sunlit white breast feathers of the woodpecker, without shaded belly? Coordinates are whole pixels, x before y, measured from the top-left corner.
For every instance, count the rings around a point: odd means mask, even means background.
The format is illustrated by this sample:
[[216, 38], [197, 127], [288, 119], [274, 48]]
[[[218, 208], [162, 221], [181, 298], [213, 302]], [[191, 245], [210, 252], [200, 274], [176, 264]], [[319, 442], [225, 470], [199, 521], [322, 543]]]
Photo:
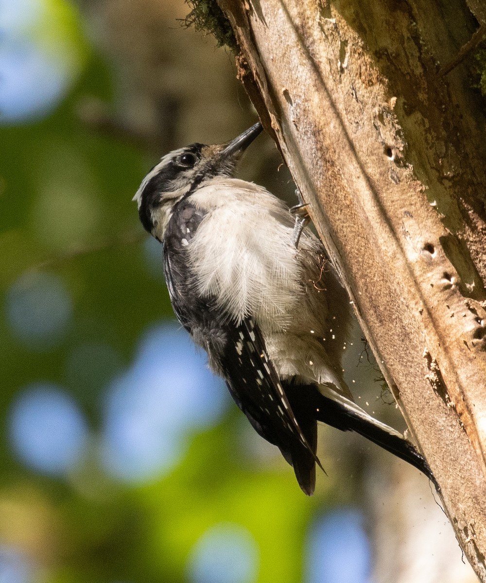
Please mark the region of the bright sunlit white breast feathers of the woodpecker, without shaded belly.
[[237, 321], [253, 315], [285, 329], [303, 294], [288, 209], [264, 188], [229, 178], [215, 179], [191, 201], [209, 210], [190, 243], [199, 293], [215, 297]]

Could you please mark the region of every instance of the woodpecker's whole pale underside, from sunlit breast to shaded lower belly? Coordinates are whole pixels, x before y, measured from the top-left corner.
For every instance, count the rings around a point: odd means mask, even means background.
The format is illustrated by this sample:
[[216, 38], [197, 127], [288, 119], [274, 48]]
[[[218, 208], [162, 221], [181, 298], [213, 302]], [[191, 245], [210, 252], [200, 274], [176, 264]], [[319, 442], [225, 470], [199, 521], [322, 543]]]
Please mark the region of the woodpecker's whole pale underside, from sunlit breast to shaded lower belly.
[[[322, 343], [330, 324], [327, 293], [318, 291], [323, 284], [313, 287], [321, 269], [328, 270], [320, 263], [325, 259], [319, 240], [304, 231], [296, 250], [288, 208], [250, 182], [215, 178], [191, 201], [208, 213], [190, 241], [198, 292], [216, 298], [217, 307], [237, 322], [255, 319], [281, 378], [331, 383], [352, 399]], [[347, 298], [340, 293], [345, 309]], [[345, 313], [341, 321], [345, 329]], [[336, 342], [341, 337], [337, 333]]]

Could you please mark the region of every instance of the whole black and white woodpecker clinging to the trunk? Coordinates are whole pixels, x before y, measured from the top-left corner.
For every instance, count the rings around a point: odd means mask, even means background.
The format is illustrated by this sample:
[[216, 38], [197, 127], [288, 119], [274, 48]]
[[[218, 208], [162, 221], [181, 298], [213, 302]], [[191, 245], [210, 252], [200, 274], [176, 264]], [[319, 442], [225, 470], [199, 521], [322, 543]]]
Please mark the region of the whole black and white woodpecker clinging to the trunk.
[[345, 384], [349, 300], [320, 240], [265, 188], [233, 177], [262, 129], [174, 150], [134, 197], [162, 243], [174, 312], [306, 494], [320, 466], [318, 421], [356, 431], [435, 483], [414, 445], [356, 405]]

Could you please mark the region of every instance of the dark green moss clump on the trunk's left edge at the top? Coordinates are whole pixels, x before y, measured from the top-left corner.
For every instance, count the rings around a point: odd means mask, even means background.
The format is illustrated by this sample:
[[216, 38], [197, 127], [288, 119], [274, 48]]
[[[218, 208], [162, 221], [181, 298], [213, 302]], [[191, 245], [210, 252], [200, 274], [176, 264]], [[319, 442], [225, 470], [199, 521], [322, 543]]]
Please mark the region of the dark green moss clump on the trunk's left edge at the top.
[[228, 47], [235, 54], [239, 52], [235, 33], [216, 0], [186, 0], [186, 3], [191, 8], [183, 20], [186, 26], [211, 33], [218, 41], [218, 47]]

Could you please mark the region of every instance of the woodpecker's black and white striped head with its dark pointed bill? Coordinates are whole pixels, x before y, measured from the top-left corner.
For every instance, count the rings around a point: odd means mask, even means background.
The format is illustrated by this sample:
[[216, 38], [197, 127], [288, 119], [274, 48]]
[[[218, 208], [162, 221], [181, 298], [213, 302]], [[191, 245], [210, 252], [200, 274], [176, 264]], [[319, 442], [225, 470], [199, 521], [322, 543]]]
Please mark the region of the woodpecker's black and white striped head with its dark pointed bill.
[[194, 143], [166, 154], [146, 175], [133, 198], [145, 229], [160, 239], [174, 205], [211, 178], [232, 176], [241, 154], [262, 129], [258, 122], [227, 144]]

